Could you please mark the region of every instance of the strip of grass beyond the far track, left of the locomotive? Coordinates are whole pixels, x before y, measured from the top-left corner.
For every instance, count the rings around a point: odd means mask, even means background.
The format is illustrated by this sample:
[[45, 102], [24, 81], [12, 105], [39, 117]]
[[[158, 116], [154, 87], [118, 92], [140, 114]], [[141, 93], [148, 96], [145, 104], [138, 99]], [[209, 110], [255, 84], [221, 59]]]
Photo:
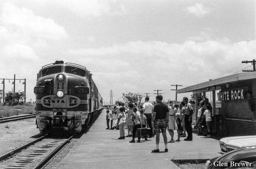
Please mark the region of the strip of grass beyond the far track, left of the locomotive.
[[23, 114], [33, 114], [35, 111], [35, 104], [26, 103], [24, 105], [8, 106], [0, 103], [0, 118], [6, 118], [10, 116], [17, 116]]

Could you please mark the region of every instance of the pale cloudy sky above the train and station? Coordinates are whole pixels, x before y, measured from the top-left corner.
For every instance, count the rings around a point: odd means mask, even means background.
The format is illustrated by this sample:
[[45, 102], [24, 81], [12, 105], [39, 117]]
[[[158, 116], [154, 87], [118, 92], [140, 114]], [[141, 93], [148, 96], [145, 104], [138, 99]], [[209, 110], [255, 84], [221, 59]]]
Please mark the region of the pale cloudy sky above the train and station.
[[35, 101], [38, 71], [61, 60], [85, 66], [105, 103], [111, 90], [113, 102], [128, 92], [154, 101], [154, 90], [175, 100], [172, 85], [252, 69], [242, 61], [256, 58], [255, 7], [252, 0], [2, 0], [0, 79], [26, 78], [26, 101]]

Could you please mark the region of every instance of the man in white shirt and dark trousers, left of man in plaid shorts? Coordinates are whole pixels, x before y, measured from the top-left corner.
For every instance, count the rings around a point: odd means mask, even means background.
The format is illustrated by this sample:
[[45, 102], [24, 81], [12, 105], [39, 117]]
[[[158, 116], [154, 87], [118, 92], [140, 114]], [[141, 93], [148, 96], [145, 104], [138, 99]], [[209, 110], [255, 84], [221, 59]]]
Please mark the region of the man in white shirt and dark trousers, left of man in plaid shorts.
[[152, 103], [150, 103], [149, 100], [150, 100], [149, 97], [145, 98], [145, 103], [143, 104], [142, 108], [144, 110], [144, 115], [146, 116], [146, 122], [147, 122], [146, 127], [151, 128], [151, 133], [149, 135], [150, 135], [150, 137], [152, 137], [153, 127], [152, 127], [151, 122], [152, 122], [152, 114], [153, 114], [154, 105]]

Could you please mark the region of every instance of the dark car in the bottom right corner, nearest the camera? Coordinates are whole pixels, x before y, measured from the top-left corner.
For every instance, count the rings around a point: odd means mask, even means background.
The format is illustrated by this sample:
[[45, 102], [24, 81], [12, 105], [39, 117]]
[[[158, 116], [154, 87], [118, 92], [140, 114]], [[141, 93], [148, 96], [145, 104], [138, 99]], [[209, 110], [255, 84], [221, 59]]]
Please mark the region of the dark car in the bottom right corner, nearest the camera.
[[256, 146], [236, 149], [207, 160], [205, 168], [256, 168]]

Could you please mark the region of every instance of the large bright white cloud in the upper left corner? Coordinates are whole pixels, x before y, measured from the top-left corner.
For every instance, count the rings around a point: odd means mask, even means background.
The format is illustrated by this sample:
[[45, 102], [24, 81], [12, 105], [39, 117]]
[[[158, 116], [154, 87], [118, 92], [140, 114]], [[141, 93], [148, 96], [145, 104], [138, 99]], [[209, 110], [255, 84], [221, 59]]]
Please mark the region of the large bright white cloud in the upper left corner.
[[34, 15], [26, 8], [19, 9], [12, 3], [6, 3], [0, 18], [1, 24], [8, 27], [10, 32], [25, 33], [26, 35], [47, 40], [67, 38], [65, 29], [50, 18]]

